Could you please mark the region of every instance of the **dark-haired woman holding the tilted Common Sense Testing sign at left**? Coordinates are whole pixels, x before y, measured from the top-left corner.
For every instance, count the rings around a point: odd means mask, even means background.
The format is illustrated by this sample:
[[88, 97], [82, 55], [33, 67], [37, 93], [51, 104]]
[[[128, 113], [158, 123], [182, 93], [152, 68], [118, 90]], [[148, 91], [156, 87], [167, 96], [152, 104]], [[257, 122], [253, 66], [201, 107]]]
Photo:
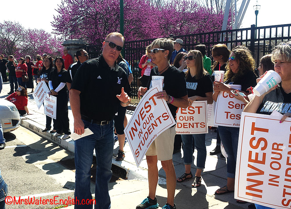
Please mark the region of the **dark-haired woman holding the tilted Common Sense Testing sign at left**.
[[[53, 60], [52, 57], [47, 56], [43, 58], [43, 67], [41, 68], [41, 70], [38, 72], [38, 78], [36, 79], [36, 82], [39, 83], [42, 80], [45, 82], [45, 84], [47, 85], [47, 87], [49, 88], [49, 75], [51, 74], [51, 72], [54, 71], [54, 67], [53, 67]], [[49, 116], [45, 116], [46, 118], [46, 123], [45, 123], [45, 129], [42, 130], [42, 132], [46, 132], [48, 130], [51, 129], [52, 127], [52, 118]], [[53, 130], [50, 131], [49, 133], [53, 134], [56, 133], [56, 119], [53, 119]]]

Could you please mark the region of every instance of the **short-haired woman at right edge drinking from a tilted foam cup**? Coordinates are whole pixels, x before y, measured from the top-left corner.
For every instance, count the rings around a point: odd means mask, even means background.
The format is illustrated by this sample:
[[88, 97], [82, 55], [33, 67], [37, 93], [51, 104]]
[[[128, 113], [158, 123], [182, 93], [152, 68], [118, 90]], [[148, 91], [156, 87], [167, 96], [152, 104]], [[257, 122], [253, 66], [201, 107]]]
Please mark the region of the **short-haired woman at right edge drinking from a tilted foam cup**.
[[[244, 108], [244, 112], [271, 115], [274, 110], [277, 110], [283, 115], [279, 122], [282, 123], [287, 117], [291, 117], [291, 41], [277, 45], [272, 52], [271, 59], [275, 64], [275, 72], [282, 79], [281, 83], [275, 85], [265, 94], [255, 96]], [[264, 76], [265, 74], [261, 75], [257, 81]], [[279, 124], [276, 128], [280, 128]], [[257, 209], [271, 209], [257, 204], [255, 206]]]

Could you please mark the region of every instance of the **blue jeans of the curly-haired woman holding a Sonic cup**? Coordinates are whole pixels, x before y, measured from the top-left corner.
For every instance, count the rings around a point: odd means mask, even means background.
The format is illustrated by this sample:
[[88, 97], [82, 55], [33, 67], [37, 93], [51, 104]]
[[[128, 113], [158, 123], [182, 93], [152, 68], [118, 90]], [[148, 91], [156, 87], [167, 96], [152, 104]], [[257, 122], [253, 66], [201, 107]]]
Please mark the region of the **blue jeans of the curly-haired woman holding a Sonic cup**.
[[235, 178], [239, 128], [218, 126], [219, 136], [227, 154], [227, 177]]

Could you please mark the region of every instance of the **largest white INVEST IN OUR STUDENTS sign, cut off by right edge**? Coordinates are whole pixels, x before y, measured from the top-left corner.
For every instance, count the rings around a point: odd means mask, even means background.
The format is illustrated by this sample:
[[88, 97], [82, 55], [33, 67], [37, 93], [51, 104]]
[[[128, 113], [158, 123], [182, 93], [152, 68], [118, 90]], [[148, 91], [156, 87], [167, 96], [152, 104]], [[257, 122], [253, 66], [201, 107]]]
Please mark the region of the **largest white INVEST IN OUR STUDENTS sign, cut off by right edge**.
[[242, 113], [235, 199], [291, 208], [291, 118]]

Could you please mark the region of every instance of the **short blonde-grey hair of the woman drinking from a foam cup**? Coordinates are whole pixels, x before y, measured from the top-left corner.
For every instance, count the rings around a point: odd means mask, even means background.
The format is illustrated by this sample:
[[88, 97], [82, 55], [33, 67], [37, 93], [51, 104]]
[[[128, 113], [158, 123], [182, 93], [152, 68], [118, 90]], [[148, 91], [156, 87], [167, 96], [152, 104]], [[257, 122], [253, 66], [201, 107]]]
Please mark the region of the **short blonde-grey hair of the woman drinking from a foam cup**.
[[287, 43], [279, 43], [276, 45], [272, 51], [272, 62], [274, 60], [281, 60], [283, 62], [291, 63], [291, 41]]

